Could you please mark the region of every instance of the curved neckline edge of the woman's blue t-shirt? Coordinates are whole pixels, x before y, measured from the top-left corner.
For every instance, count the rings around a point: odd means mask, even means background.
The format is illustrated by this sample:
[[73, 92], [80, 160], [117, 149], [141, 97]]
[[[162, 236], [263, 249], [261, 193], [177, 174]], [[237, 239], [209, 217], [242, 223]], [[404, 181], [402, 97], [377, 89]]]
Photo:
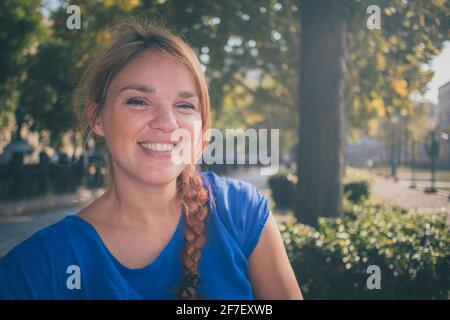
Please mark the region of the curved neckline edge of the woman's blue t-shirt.
[[162, 260], [163, 256], [166, 255], [166, 253], [169, 251], [169, 249], [171, 247], [173, 247], [176, 238], [178, 237], [178, 234], [181, 232], [181, 230], [183, 229], [182, 227], [184, 226], [184, 209], [181, 210], [181, 214], [180, 217], [178, 219], [178, 224], [177, 224], [177, 228], [175, 229], [175, 232], [172, 234], [172, 238], [169, 240], [169, 242], [167, 243], [167, 245], [164, 247], [164, 249], [159, 253], [159, 255], [153, 259], [152, 262], [150, 262], [149, 264], [141, 267], [141, 268], [129, 268], [127, 266], [125, 266], [124, 264], [122, 264], [122, 262], [120, 262], [112, 253], [111, 251], [108, 249], [108, 247], [106, 246], [106, 244], [104, 243], [102, 237], [100, 236], [100, 234], [98, 233], [97, 229], [95, 229], [95, 227], [87, 220], [77, 216], [75, 213], [70, 214], [69, 216], [67, 216], [66, 218], [71, 219], [72, 221], [74, 221], [75, 223], [77, 223], [78, 225], [80, 225], [81, 227], [87, 229], [87, 231], [89, 233], [91, 233], [96, 240], [100, 243], [100, 245], [102, 246], [102, 248], [106, 251], [106, 253], [108, 254], [108, 256], [110, 257], [110, 259], [113, 261], [113, 263], [116, 265], [116, 267], [118, 267], [119, 269], [121, 269], [122, 271], [126, 272], [126, 273], [140, 273], [140, 272], [146, 272], [151, 270], [152, 268], [154, 268], [157, 264], [159, 264], [159, 262]]

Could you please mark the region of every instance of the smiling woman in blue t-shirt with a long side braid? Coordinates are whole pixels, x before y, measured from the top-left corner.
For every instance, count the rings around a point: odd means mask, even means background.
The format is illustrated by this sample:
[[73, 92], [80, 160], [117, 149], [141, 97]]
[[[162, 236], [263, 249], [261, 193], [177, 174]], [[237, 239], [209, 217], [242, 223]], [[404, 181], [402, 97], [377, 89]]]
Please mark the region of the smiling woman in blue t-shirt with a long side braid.
[[[85, 128], [110, 155], [104, 195], [0, 261], [3, 299], [301, 299], [268, 201], [198, 173], [210, 128], [192, 48], [147, 22], [121, 24], [80, 81]], [[174, 148], [192, 146], [191, 164]], [[199, 150], [199, 151], [198, 151]]]

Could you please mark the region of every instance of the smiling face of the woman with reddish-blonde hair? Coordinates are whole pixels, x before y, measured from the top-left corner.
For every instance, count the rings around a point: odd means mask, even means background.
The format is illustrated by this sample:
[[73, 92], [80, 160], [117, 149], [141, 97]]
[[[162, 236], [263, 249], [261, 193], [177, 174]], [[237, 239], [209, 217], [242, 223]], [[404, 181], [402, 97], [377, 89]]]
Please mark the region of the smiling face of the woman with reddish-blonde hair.
[[[184, 129], [194, 137], [201, 124], [199, 91], [186, 65], [146, 51], [111, 82], [94, 132], [103, 135], [117, 170], [148, 185], [173, 182], [185, 164], [171, 159]], [[178, 145], [180, 147], [180, 145]]]

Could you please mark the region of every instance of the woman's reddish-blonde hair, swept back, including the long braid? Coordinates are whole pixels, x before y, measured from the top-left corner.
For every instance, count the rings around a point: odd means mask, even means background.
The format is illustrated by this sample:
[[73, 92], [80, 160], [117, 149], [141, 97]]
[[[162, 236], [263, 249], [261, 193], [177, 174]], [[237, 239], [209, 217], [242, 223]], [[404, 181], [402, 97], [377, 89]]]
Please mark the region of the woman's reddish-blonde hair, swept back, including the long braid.
[[[133, 58], [146, 50], [154, 50], [184, 63], [192, 72], [200, 93], [200, 113], [203, 133], [211, 127], [210, 102], [205, 75], [198, 57], [190, 45], [166, 27], [149, 22], [146, 18], [133, 18], [112, 28], [108, 43], [96, 54], [84, 72], [75, 92], [75, 106], [78, 110], [84, 134], [89, 139], [90, 123], [102, 110], [108, 87]], [[87, 106], [94, 102], [95, 111], [91, 119], [87, 116]], [[203, 148], [207, 142], [204, 142]], [[108, 160], [107, 186], [114, 181], [111, 157]], [[194, 164], [187, 165], [177, 177], [177, 192], [184, 207], [186, 245], [182, 259], [184, 278], [175, 290], [179, 299], [200, 299], [199, 262], [201, 250], [206, 242], [206, 218], [209, 213], [210, 192], [206, 181], [201, 178]]]

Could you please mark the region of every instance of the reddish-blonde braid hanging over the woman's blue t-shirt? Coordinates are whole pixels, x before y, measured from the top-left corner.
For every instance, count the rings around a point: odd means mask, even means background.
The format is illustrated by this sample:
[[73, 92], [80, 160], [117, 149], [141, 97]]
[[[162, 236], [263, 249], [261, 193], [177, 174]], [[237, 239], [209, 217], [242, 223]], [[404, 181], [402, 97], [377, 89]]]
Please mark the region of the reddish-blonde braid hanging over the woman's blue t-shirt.
[[197, 294], [200, 282], [199, 262], [201, 250], [206, 243], [206, 218], [208, 216], [208, 191], [195, 165], [187, 166], [177, 179], [178, 195], [186, 214], [185, 238], [183, 250], [184, 278], [177, 288], [179, 299], [202, 299]]

